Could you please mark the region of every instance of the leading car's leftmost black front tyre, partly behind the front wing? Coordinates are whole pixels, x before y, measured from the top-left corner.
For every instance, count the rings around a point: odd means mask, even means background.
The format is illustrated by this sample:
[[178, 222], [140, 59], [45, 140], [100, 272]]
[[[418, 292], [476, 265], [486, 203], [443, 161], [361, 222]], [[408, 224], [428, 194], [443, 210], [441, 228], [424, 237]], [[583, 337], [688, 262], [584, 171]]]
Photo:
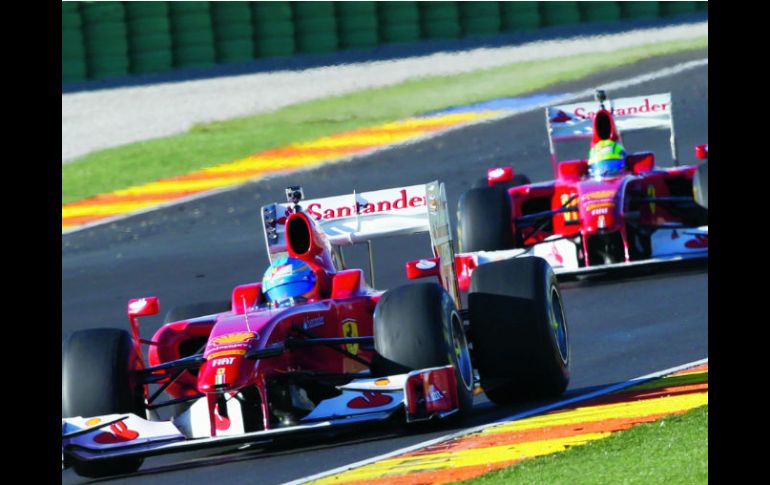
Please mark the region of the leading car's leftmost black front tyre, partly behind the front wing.
[[[125, 330], [81, 330], [62, 342], [62, 418], [133, 413], [146, 417], [141, 361]], [[72, 461], [79, 475], [103, 477], [132, 473], [142, 458]]]

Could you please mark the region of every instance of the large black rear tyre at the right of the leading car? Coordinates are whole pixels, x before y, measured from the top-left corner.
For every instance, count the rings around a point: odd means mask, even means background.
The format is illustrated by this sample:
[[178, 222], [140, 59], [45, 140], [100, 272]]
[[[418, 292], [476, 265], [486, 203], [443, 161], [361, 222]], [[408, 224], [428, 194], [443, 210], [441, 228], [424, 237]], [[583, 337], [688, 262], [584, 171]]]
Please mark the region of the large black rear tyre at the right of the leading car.
[[564, 392], [570, 378], [567, 319], [544, 259], [479, 266], [468, 308], [475, 364], [490, 401], [512, 404]]

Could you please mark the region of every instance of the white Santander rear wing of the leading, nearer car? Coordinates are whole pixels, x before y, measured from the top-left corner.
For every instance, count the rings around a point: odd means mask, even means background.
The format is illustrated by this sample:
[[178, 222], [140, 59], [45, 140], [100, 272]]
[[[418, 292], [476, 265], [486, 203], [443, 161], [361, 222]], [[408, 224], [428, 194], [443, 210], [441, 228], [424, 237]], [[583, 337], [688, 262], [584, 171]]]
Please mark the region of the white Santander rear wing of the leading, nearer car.
[[[449, 226], [444, 184], [429, 182], [422, 185], [396, 187], [372, 192], [310, 199], [300, 202], [302, 210], [313, 217], [329, 242], [335, 247], [368, 243], [373, 239], [429, 232], [433, 256], [441, 261], [441, 281], [460, 305], [454, 268], [452, 230]], [[262, 207], [265, 246], [270, 261], [286, 256], [285, 220], [293, 203], [272, 203]], [[371, 245], [369, 246], [370, 276], [373, 279]], [[342, 258], [335, 257], [335, 264]], [[341, 269], [341, 268], [340, 268]], [[374, 284], [374, 282], [372, 282]]]

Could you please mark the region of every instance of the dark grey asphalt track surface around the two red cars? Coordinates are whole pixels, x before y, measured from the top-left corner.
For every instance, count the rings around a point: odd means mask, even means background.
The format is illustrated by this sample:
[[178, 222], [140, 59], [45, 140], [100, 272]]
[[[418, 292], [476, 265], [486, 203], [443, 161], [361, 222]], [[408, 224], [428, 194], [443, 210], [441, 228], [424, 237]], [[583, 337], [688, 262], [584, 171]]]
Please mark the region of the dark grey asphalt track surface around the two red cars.
[[[706, 51], [699, 51], [647, 60], [546, 91], [577, 92], [707, 57]], [[666, 91], [674, 99], [680, 160], [692, 163], [693, 146], [708, 143], [708, 66], [609, 95]], [[650, 149], [659, 161], [668, 158], [667, 136], [628, 135], [624, 142], [631, 151]], [[552, 177], [541, 110], [64, 235], [62, 333], [104, 326], [128, 328], [125, 308], [130, 298], [158, 296], [163, 314], [177, 305], [228, 299], [233, 286], [259, 280], [267, 267], [259, 207], [281, 200], [288, 185], [302, 185], [306, 196], [315, 198], [439, 179], [446, 184], [454, 211], [460, 194], [484, 176], [488, 166], [502, 164], [512, 164], [532, 181]], [[430, 249], [427, 236], [413, 236], [375, 242], [374, 251], [376, 286], [389, 288], [406, 283], [406, 259], [427, 256]], [[361, 254], [358, 251], [354, 259]], [[572, 346], [569, 394], [708, 356], [708, 268], [704, 264], [568, 282], [562, 288]], [[151, 336], [161, 320], [161, 316], [144, 319], [143, 336]], [[497, 407], [478, 396], [476, 412], [466, 425], [494, 421], [520, 409]], [[391, 425], [237, 453], [215, 450], [155, 457], [147, 459], [138, 474], [106, 482], [207, 484], [226, 477], [228, 484], [283, 483], [452, 429], [458, 428], [404, 434]], [[71, 470], [62, 472], [62, 483], [85, 481]]]

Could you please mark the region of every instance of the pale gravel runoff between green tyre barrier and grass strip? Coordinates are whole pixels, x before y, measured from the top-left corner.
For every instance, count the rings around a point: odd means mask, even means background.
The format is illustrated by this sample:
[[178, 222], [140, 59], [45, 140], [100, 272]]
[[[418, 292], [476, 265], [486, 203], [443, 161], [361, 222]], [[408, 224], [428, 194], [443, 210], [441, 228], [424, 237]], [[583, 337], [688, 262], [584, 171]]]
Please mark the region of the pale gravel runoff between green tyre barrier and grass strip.
[[183, 133], [195, 123], [274, 111], [301, 101], [398, 84], [408, 79], [610, 52], [703, 35], [708, 35], [708, 22], [303, 71], [63, 94], [62, 164], [94, 150]]

